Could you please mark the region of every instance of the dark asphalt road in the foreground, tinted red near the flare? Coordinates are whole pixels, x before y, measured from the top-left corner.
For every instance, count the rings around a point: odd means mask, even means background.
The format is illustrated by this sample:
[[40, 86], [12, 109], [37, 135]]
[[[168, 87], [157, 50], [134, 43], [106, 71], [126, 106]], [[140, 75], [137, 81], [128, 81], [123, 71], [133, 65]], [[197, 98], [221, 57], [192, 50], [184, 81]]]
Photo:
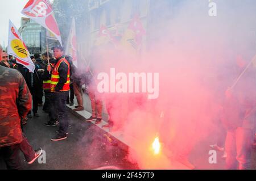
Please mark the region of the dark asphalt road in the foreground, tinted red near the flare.
[[[99, 167], [114, 166], [119, 169], [138, 169], [137, 165], [126, 159], [127, 151], [119, 142], [117, 146], [110, 144], [104, 136], [105, 132], [92, 123], [68, 113], [69, 134], [63, 141], [50, 140], [55, 135], [57, 127], [46, 127], [47, 113], [41, 111], [40, 117], [33, 117], [24, 126], [24, 133], [34, 149], [42, 148], [46, 151], [46, 163], [35, 161], [27, 165], [20, 153], [23, 169], [97, 169]], [[122, 149], [121, 149], [122, 148]], [[0, 169], [6, 169], [0, 158]]]

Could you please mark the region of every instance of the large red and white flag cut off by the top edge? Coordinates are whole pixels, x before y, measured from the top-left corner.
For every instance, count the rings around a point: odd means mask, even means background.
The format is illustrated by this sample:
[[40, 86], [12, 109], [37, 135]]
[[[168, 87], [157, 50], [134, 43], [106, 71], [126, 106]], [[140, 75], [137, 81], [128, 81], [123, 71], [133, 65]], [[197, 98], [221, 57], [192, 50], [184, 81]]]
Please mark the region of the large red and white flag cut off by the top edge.
[[52, 32], [62, 45], [60, 30], [53, 16], [51, 3], [48, 0], [29, 0], [22, 10], [22, 14]]

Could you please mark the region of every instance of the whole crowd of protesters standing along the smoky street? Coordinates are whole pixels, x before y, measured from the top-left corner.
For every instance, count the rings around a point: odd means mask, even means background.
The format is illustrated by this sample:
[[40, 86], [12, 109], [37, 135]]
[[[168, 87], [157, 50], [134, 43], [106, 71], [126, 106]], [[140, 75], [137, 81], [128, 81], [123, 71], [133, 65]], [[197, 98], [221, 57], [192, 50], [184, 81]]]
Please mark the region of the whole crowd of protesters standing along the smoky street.
[[[60, 45], [56, 45], [52, 50], [53, 54], [46, 52], [31, 56], [35, 64], [35, 71], [32, 73], [0, 48], [0, 153], [8, 169], [20, 168], [19, 150], [29, 164], [42, 154], [42, 149], [32, 149], [22, 131], [28, 119], [32, 116], [40, 116], [39, 106], [43, 106], [43, 111], [48, 113], [49, 120], [44, 125], [47, 127], [59, 125], [51, 141], [67, 138], [69, 123], [66, 105], [73, 106], [75, 96], [77, 106], [74, 111], [84, 110], [83, 85], [87, 87], [92, 106], [92, 116], [86, 121], [95, 121], [96, 124], [102, 121], [102, 100], [95, 92], [91, 70], [88, 67], [85, 70], [76, 68], [72, 64], [72, 57], [65, 56]], [[226, 158], [228, 169], [237, 169], [237, 165], [238, 169], [250, 169], [251, 144], [255, 146], [256, 141], [252, 134], [255, 105], [253, 100], [246, 100], [245, 103], [247, 109], [239, 110], [240, 103], [236, 99], [236, 92], [226, 91], [226, 102], [222, 108], [225, 117], [221, 117], [220, 123], [221, 134], [217, 144], [211, 147], [225, 151], [223, 158]], [[106, 106], [109, 121], [102, 128], [114, 127], [111, 105], [109, 103]]]

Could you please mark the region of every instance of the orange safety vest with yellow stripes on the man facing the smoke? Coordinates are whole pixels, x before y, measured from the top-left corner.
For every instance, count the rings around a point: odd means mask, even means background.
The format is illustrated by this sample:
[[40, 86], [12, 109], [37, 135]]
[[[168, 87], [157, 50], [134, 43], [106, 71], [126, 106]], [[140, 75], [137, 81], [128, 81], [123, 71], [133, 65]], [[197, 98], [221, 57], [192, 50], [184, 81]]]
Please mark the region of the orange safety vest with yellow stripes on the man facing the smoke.
[[53, 67], [53, 70], [52, 70], [52, 77], [51, 77], [51, 90], [54, 90], [57, 83], [59, 83], [59, 80], [60, 80], [60, 74], [59, 74], [59, 66], [62, 62], [65, 62], [65, 64], [68, 65], [68, 79], [67, 79], [67, 82], [65, 82], [63, 88], [60, 90], [60, 91], [69, 91], [70, 88], [69, 88], [69, 84], [70, 84], [70, 68], [69, 68], [69, 63], [68, 61], [65, 59], [65, 58], [61, 58], [57, 64], [55, 64], [55, 66]]

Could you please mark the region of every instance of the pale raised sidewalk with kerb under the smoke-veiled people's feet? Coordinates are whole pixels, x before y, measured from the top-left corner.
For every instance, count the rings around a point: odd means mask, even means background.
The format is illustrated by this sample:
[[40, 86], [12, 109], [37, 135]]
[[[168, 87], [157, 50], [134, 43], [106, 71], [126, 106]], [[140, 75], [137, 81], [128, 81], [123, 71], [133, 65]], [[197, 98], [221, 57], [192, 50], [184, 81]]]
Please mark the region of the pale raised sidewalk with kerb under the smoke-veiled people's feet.
[[[77, 104], [76, 102], [76, 98], [74, 100], [74, 103]], [[67, 105], [67, 107], [69, 108], [69, 111], [71, 111], [73, 113], [73, 115], [79, 117], [79, 119], [88, 119], [92, 113], [92, 109], [90, 107], [90, 99], [89, 96], [87, 94], [84, 94], [84, 111], [73, 111], [73, 109], [75, 109], [75, 105], [74, 106], [69, 106]], [[92, 124], [96, 125], [97, 127], [101, 128], [102, 130], [104, 130], [106, 132], [106, 135], [110, 138], [110, 139], [117, 139], [118, 141], [122, 142], [122, 144], [118, 144], [118, 146], [120, 146], [122, 149], [124, 150], [128, 150], [128, 148], [133, 149], [131, 142], [128, 142], [127, 140], [124, 139], [123, 133], [121, 131], [115, 131], [115, 132], [110, 132], [109, 128], [103, 129], [102, 125], [107, 123], [107, 119], [108, 119], [108, 115], [106, 114], [106, 109], [105, 106], [103, 105], [103, 111], [102, 111], [102, 122], [100, 124], [95, 124], [94, 121], [91, 122]], [[86, 121], [86, 120], [85, 120]], [[126, 135], [126, 137], [129, 137], [129, 135]], [[134, 140], [135, 138], [130, 137], [129, 140]], [[184, 166], [183, 164], [179, 163], [179, 162], [173, 162], [171, 163], [171, 167], [170, 170], [174, 169], [174, 170], [189, 170], [188, 167]]]

